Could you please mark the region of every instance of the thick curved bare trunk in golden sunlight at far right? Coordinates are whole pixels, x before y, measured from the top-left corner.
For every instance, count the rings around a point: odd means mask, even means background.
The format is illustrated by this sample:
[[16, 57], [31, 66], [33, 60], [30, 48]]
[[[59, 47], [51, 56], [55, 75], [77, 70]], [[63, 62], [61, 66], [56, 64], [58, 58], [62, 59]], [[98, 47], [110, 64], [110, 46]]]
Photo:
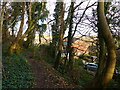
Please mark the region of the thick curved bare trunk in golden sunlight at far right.
[[100, 0], [98, 2], [98, 22], [103, 38], [105, 40], [108, 56], [105, 69], [103, 70], [100, 76], [94, 79], [92, 87], [104, 88], [112, 79], [116, 64], [115, 43], [106, 21], [104, 13], [104, 0]]

